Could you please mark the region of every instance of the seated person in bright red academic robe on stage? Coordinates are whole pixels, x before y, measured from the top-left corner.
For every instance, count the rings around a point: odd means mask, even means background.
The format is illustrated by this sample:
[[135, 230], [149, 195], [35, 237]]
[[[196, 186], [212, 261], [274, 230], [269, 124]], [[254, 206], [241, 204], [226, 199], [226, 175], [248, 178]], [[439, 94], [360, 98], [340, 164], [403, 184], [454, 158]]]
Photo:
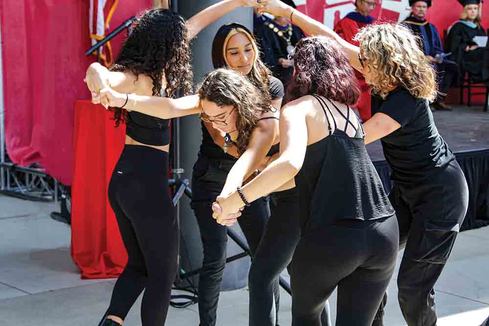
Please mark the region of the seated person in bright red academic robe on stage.
[[[349, 13], [339, 21], [334, 26], [334, 31], [345, 41], [358, 46], [358, 42], [354, 41], [353, 38], [359, 29], [375, 21], [375, 18], [370, 16], [370, 13], [377, 6], [377, 2], [376, 0], [356, 0], [355, 6], [356, 11]], [[361, 93], [360, 99], [353, 109], [358, 110], [360, 119], [365, 122], [372, 117], [370, 87], [365, 82], [363, 75], [356, 70], [354, 71]]]

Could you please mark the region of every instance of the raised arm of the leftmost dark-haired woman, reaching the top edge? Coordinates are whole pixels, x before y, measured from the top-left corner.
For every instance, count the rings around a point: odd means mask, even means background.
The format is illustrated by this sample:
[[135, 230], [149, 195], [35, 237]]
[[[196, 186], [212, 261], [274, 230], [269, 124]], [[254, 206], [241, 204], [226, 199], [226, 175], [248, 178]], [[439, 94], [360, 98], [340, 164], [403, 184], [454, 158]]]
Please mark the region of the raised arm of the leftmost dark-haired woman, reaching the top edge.
[[192, 16], [188, 21], [188, 39], [191, 40], [200, 33], [202, 29], [230, 13], [238, 7], [261, 7], [258, 0], [223, 0], [210, 7], [205, 8]]

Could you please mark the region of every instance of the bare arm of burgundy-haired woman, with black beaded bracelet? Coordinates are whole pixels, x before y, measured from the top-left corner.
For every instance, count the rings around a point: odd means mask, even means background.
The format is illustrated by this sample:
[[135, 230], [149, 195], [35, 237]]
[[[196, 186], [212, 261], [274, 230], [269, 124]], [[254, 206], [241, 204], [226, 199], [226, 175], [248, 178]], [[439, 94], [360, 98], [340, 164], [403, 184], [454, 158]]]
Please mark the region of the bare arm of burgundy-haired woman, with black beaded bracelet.
[[[285, 106], [280, 116], [280, 157], [267, 166], [267, 168], [252, 181], [243, 187], [243, 195], [247, 201], [252, 202], [291, 180], [301, 169], [306, 155], [308, 130], [305, 109], [299, 103]], [[244, 206], [239, 194], [235, 191], [229, 196], [220, 196], [217, 199], [222, 212], [214, 212], [219, 217], [218, 222], [227, 225], [227, 214], [236, 212]]]

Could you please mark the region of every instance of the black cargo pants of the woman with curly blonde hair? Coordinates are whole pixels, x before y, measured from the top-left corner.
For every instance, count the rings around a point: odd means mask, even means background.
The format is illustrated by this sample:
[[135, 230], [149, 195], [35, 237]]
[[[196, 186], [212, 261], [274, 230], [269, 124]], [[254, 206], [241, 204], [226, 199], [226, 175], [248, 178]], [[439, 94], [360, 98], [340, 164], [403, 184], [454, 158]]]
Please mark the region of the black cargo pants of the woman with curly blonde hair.
[[467, 181], [453, 160], [422, 184], [395, 185], [389, 199], [399, 221], [400, 248], [405, 247], [397, 282], [402, 315], [408, 326], [435, 326], [433, 287], [467, 213]]

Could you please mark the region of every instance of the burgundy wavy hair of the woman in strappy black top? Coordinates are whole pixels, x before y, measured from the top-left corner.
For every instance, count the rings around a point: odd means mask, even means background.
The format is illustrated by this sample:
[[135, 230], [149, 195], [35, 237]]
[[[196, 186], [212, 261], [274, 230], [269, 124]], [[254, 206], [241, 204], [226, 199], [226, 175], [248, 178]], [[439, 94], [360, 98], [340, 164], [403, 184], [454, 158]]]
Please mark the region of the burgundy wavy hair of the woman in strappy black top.
[[360, 97], [353, 68], [339, 44], [324, 36], [300, 40], [293, 54], [295, 74], [287, 87], [286, 100], [318, 94], [345, 105]]

